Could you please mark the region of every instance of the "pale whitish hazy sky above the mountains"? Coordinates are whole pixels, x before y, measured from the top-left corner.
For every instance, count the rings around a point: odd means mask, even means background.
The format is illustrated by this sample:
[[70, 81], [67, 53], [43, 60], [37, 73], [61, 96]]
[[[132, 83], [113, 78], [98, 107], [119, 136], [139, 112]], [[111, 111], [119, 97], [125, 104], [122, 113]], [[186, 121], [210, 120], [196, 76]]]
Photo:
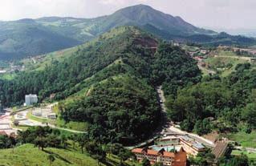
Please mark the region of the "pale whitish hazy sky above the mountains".
[[43, 16], [94, 18], [141, 3], [181, 16], [196, 26], [256, 30], [256, 0], [1, 0], [0, 20]]

